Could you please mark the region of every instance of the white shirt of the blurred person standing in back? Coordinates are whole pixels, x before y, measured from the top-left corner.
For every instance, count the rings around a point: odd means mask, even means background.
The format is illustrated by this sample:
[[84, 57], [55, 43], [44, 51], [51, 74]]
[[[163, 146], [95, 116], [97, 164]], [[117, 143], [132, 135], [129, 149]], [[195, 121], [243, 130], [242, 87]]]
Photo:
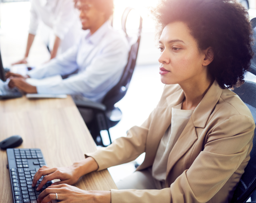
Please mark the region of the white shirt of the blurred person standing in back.
[[52, 28], [61, 40], [69, 31], [77, 32], [74, 25], [79, 25], [79, 18], [73, 0], [31, 0], [30, 13], [30, 34], [36, 35], [39, 20]]

